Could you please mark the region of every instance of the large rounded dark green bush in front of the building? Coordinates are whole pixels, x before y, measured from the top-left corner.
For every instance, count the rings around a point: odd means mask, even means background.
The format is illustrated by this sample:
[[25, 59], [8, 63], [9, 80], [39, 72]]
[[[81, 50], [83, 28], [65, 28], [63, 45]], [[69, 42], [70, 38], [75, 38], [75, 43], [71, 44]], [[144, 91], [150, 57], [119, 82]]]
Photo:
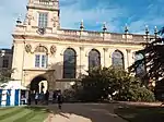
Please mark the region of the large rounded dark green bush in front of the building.
[[[154, 100], [153, 93], [142, 88], [140, 80], [121, 69], [114, 68], [89, 72], [89, 75], [82, 80], [80, 85], [74, 85], [73, 89], [77, 93], [75, 98], [82, 101], [103, 101], [109, 96], [114, 100]], [[143, 98], [145, 96], [147, 98]]]

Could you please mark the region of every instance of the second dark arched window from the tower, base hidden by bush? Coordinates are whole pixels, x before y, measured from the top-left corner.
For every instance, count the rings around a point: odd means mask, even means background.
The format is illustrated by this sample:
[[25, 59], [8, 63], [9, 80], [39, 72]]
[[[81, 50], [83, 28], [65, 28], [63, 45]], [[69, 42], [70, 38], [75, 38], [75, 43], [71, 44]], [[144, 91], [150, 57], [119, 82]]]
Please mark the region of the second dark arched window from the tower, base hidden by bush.
[[101, 66], [101, 53], [96, 49], [89, 52], [89, 70]]

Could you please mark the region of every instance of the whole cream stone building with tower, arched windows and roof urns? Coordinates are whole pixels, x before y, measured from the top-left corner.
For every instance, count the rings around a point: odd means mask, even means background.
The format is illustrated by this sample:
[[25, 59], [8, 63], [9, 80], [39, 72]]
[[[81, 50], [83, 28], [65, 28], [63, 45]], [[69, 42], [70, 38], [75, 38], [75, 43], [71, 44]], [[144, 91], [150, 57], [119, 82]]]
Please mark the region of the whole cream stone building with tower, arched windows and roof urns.
[[[24, 22], [17, 20], [13, 32], [12, 77], [32, 89], [40, 81], [49, 90], [69, 88], [94, 66], [120, 65], [125, 70], [143, 48], [145, 35], [60, 28], [58, 0], [30, 0]], [[40, 86], [40, 85], [39, 85]]]

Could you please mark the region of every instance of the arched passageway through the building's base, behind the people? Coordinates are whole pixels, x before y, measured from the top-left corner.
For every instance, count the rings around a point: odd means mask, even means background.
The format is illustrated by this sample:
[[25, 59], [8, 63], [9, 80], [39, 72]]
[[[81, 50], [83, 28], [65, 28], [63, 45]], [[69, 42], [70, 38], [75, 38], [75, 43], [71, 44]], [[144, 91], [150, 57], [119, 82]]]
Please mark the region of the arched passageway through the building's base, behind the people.
[[46, 90], [48, 89], [48, 81], [42, 75], [36, 76], [32, 80], [30, 89], [33, 93], [46, 93]]

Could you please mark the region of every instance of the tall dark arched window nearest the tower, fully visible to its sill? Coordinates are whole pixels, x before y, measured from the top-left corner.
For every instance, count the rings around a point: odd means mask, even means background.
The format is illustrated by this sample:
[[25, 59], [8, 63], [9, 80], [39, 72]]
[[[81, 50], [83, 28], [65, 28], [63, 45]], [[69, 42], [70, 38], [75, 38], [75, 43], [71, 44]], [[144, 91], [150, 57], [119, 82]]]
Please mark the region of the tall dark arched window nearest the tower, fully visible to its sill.
[[68, 48], [63, 52], [63, 78], [75, 78], [77, 52]]

